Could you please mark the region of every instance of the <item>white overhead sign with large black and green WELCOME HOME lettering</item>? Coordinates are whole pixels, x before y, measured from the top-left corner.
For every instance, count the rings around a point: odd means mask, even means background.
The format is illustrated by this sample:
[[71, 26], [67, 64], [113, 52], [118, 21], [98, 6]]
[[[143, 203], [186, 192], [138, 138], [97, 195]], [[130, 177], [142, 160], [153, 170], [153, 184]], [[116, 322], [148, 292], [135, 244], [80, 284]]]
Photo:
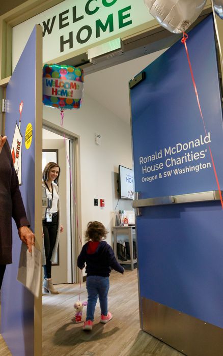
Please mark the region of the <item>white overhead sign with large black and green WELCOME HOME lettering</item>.
[[12, 70], [36, 24], [43, 27], [43, 63], [151, 21], [143, 0], [65, 0], [13, 27]]

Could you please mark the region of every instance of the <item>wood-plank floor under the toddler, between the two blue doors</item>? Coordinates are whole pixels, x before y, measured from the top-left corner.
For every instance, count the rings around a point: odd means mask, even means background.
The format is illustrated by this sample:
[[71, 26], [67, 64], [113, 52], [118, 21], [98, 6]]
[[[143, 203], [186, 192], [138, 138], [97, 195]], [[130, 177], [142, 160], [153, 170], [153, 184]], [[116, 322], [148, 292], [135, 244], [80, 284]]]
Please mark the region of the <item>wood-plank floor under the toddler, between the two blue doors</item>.
[[[128, 266], [126, 266], [128, 269]], [[100, 323], [97, 303], [94, 327], [82, 331], [82, 323], [71, 321], [73, 304], [87, 301], [86, 283], [57, 286], [58, 295], [43, 295], [43, 356], [180, 356], [182, 353], [140, 329], [138, 312], [137, 270], [124, 275], [112, 272], [108, 297], [113, 319]], [[86, 317], [86, 307], [83, 318]]]

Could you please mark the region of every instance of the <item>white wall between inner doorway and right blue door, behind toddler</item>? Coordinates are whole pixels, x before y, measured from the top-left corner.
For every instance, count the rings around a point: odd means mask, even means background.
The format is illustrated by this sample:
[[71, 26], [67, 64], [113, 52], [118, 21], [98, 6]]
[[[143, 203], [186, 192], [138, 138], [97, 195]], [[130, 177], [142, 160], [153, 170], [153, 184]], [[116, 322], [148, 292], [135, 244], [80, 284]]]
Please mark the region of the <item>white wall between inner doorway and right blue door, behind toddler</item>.
[[[44, 106], [43, 118], [60, 126], [59, 109]], [[107, 242], [112, 244], [118, 167], [132, 168], [130, 125], [84, 94], [80, 109], [65, 110], [64, 128], [80, 136], [82, 241], [88, 222], [98, 220], [109, 231]], [[95, 133], [101, 135], [100, 146]], [[105, 199], [105, 206], [94, 206], [94, 198], [99, 205]], [[117, 209], [132, 210], [131, 201], [120, 200]]]

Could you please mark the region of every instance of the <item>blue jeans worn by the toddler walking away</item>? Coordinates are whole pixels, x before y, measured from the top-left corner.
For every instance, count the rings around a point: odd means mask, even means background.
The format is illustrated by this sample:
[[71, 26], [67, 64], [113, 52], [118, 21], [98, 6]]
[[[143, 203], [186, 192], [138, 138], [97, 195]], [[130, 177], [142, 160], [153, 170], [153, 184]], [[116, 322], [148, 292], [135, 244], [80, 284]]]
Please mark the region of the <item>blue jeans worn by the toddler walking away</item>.
[[101, 314], [107, 315], [107, 293], [109, 289], [109, 277], [87, 277], [88, 305], [86, 320], [94, 320], [94, 313], [99, 298]]

